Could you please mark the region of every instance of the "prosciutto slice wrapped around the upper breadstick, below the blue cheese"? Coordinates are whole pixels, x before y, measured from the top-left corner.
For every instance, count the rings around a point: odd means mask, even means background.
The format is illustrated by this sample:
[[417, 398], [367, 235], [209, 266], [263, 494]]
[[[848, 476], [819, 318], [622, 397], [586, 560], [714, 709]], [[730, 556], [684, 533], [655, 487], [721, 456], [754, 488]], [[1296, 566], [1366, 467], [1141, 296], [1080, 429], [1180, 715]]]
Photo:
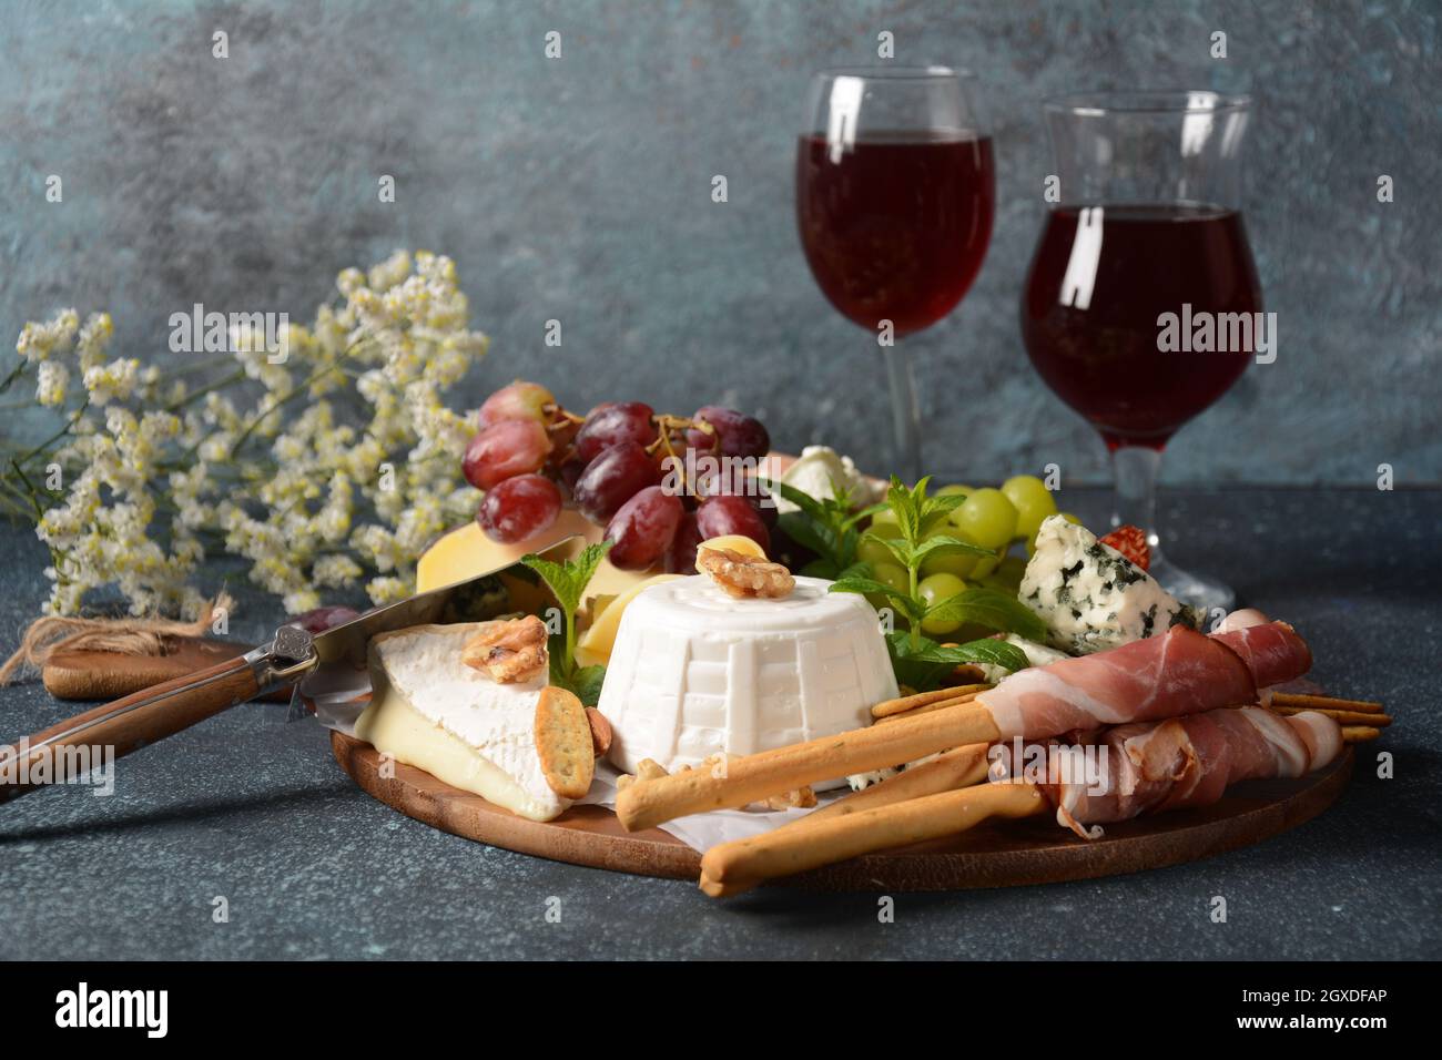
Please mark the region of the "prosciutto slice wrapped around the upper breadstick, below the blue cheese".
[[1312, 665], [1285, 622], [1203, 636], [1174, 626], [1164, 636], [1012, 673], [982, 692], [1002, 738], [1060, 736], [1240, 707], [1257, 689], [1292, 681]]

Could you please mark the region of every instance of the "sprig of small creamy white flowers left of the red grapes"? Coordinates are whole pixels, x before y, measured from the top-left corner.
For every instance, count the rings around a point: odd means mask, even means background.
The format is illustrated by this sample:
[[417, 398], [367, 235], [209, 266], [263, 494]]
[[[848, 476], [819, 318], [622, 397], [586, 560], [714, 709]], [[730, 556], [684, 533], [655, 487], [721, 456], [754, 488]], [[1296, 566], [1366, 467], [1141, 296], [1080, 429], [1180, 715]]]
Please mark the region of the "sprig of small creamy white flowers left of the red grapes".
[[398, 251], [336, 287], [335, 304], [273, 348], [232, 333], [238, 365], [198, 389], [107, 359], [105, 313], [25, 326], [0, 389], [33, 369], [35, 399], [65, 423], [6, 454], [0, 503], [33, 518], [50, 549], [48, 613], [75, 614], [89, 590], [115, 586], [134, 614], [195, 616], [196, 568], [221, 554], [245, 558], [288, 613], [360, 580], [376, 604], [412, 591], [424, 547], [480, 498], [460, 470], [474, 417], [441, 395], [487, 339], [467, 327], [450, 258]]

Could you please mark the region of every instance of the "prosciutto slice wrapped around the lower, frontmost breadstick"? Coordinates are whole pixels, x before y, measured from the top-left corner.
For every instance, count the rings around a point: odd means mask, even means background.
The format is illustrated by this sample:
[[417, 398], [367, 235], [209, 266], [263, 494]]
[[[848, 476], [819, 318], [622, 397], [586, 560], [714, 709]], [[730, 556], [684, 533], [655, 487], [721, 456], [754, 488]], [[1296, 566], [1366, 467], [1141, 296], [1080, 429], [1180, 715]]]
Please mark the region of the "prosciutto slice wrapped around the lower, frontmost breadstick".
[[1057, 808], [1057, 823], [1094, 839], [1102, 835], [1097, 825], [1207, 806], [1230, 785], [1302, 776], [1331, 763], [1341, 748], [1341, 728], [1325, 714], [1282, 717], [1260, 707], [1224, 708], [1118, 725], [1096, 743], [1096, 753], [1107, 756], [1106, 770], [1096, 772], [1105, 785], [1067, 776], [1064, 759], [1051, 756], [1047, 780], [1038, 786]]

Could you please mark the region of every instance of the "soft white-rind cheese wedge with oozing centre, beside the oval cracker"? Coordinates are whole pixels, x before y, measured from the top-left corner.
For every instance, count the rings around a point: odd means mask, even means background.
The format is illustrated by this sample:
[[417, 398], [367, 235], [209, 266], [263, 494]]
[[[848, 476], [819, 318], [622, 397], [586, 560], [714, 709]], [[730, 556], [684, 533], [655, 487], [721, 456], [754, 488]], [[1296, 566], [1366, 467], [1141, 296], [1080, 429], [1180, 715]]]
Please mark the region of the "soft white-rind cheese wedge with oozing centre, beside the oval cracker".
[[502, 685], [461, 662], [480, 623], [411, 626], [372, 637], [371, 705], [356, 737], [397, 761], [531, 821], [570, 806], [545, 782], [535, 746], [542, 673]]

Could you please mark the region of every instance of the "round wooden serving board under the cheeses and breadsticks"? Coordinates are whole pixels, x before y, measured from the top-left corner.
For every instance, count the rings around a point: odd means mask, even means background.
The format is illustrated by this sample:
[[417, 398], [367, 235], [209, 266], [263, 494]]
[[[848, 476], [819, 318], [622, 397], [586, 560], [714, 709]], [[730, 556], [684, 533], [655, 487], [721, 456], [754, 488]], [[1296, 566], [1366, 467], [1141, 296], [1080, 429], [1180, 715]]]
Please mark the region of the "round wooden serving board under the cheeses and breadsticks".
[[[342, 733], [330, 734], [330, 748], [365, 792], [444, 832], [575, 865], [675, 880], [699, 875], [701, 854], [681, 839], [660, 829], [627, 832], [601, 806], [572, 806], [557, 821], [526, 821], [411, 766], [394, 763], [395, 776], [382, 777], [376, 750]], [[1107, 825], [1106, 836], [1093, 842], [1077, 839], [1051, 818], [1004, 821], [780, 883], [831, 891], [947, 891], [1162, 868], [1247, 847], [1309, 821], [1337, 799], [1351, 770], [1348, 748], [1319, 773], [1249, 780], [1206, 809]]]

